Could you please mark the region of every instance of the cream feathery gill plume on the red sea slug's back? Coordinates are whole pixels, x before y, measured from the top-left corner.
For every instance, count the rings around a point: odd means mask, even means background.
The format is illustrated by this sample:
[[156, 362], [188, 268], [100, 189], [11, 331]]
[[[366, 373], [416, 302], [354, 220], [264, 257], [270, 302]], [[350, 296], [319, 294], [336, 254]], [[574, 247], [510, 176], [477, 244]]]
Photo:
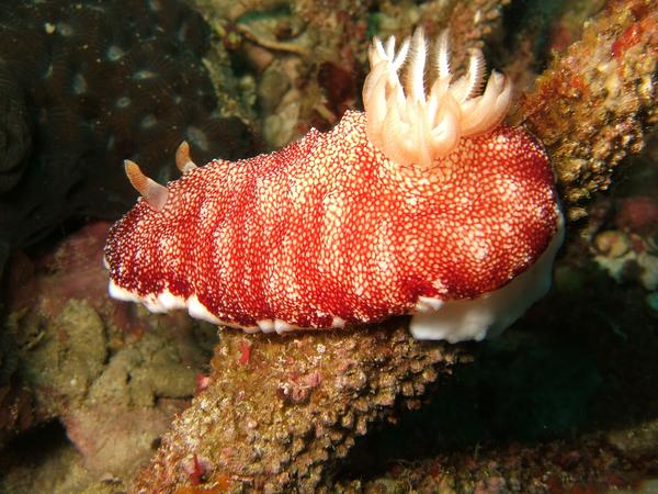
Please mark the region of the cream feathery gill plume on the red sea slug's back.
[[[407, 55], [411, 53], [408, 57]], [[485, 82], [485, 59], [470, 53], [468, 71], [451, 82], [447, 31], [436, 41], [435, 79], [424, 88], [428, 44], [421, 29], [395, 50], [375, 37], [368, 50], [371, 71], [363, 86], [367, 137], [386, 157], [400, 165], [430, 167], [454, 150], [462, 137], [486, 133], [507, 114], [512, 97], [508, 78], [491, 71]], [[404, 67], [404, 85], [398, 72]]]

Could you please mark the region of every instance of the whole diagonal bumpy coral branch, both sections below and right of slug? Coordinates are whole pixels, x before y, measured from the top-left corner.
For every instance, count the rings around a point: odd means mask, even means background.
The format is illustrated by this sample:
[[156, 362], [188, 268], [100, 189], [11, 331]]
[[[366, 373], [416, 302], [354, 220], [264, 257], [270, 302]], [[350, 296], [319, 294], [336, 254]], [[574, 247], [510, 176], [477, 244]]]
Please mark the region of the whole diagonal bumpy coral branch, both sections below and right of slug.
[[[648, 98], [656, 67], [656, 14], [650, 5], [611, 2], [521, 106], [520, 119], [546, 139], [554, 155], [563, 199], [570, 206], [583, 199], [579, 190], [590, 193], [608, 184], [612, 166], [637, 149], [642, 124], [655, 117]], [[600, 56], [595, 70], [585, 63], [594, 54]], [[587, 79], [580, 69], [587, 70]], [[637, 89], [636, 98], [624, 97], [620, 88], [626, 81]], [[603, 104], [605, 85], [616, 90]], [[593, 99], [578, 103], [577, 94]], [[593, 128], [588, 126], [592, 115], [599, 115]], [[616, 120], [623, 115], [627, 119]], [[579, 134], [574, 131], [593, 136], [595, 130], [601, 133], [595, 149], [576, 142]], [[572, 143], [572, 151], [576, 145], [586, 150], [576, 156], [579, 170], [587, 172], [568, 173], [574, 161], [565, 157], [565, 143]], [[571, 217], [579, 215], [570, 211]], [[420, 344], [406, 327], [406, 319], [394, 319], [366, 330], [284, 339], [223, 332], [207, 389], [174, 422], [134, 491], [326, 489], [331, 467], [356, 435], [371, 422], [390, 416], [396, 402], [420, 394], [438, 371], [455, 361], [455, 347]]]

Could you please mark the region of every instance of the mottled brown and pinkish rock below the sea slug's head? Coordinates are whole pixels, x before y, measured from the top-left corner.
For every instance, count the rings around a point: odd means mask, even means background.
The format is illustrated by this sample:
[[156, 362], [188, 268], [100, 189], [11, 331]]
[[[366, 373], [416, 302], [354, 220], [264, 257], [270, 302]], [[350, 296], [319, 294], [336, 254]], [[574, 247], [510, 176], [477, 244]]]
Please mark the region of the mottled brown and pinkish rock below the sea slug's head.
[[[107, 227], [88, 225], [32, 259], [10, 261], [0, 447], [58, 420], [80, 467], [115, 479], [150, 456], [173, 414], [188, 405], [215, 329], [180, 314], [154, 319], [111, 303], [101, 259]], [[0, 469], [12, 458], [3, 457]]]

